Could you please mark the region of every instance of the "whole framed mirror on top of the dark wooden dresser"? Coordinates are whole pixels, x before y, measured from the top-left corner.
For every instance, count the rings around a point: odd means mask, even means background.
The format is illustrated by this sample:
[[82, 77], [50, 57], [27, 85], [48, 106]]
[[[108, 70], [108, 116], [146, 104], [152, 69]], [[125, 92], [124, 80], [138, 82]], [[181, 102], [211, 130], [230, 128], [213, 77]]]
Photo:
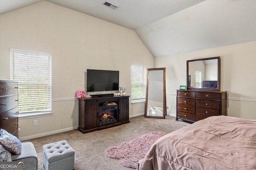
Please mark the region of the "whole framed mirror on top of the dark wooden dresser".
[[220, 57], [188, 60], [187, 90], [220, 91]]

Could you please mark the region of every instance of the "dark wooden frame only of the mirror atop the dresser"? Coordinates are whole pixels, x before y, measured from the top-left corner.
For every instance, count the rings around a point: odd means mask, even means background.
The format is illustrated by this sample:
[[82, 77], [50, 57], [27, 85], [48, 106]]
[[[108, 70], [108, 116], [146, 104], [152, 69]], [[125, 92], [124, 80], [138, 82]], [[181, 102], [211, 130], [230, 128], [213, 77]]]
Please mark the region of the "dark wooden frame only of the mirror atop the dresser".
[[[188, 79], [188, 70], [189, 70], [189, 63], [194, 61], [205, 61], [205, 60], [212, 60], [212, 59], [218, 59], [218, 82], [217, 82], [217, 88], [190, 88], [189, 87], [189, 79]], [[213, 91], [220, 91], [220, 57], [210, 57], [210, 58], [204, 58], [204, 59], [195, 59], [195, 60], [188, 60], [187, 61], [187, 90], [213, 90]]]

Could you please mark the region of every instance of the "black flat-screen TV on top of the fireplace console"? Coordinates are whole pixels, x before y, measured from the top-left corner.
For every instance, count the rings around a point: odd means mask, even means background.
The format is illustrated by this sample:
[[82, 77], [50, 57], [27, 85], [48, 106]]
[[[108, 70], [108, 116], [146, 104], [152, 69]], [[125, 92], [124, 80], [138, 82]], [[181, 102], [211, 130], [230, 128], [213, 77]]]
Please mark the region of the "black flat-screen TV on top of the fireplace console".
[[119, 71], [87, 69], [87, 92], [118, 90]]

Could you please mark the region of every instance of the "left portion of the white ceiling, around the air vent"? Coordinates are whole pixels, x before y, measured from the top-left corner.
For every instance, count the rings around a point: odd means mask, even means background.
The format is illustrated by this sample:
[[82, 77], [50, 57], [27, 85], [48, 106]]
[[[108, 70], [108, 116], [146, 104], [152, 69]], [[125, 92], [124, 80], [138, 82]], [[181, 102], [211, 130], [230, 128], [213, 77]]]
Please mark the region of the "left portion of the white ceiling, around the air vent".
[[[0, 0], [0, 14], [22, 8], [43, 0]], [[184, 10], [203, 0], [47, 0], [54, 4], [100, 18], [130, 29]], [[118, 8], [103, 5], [110, 2]]]

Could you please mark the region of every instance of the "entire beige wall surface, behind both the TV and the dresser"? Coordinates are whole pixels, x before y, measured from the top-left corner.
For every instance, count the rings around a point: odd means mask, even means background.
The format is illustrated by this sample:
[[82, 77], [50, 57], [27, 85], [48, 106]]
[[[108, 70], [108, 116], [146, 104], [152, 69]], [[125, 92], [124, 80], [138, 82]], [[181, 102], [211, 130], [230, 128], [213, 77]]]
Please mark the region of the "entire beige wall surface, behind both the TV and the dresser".
[[[78, 127], [75, 92], [84, 89], [86, 69], [119, 70], [120, 86], [130, 94], [132, 63], [166, 67], [168, 113], [176, 115], [176, 89], [186, 85], [186, 61], [220, 56], [228, 115], [256, 119], [256, 42], [154, 59], [133, 30], [44, 1], [0, 15], [0, 79], [10, 79], [10, 48], [52, 53], [54, 113], [19, 120], [21, 140]], [[131, 117], [143, 112], [144, 103], [130, 104]]]

